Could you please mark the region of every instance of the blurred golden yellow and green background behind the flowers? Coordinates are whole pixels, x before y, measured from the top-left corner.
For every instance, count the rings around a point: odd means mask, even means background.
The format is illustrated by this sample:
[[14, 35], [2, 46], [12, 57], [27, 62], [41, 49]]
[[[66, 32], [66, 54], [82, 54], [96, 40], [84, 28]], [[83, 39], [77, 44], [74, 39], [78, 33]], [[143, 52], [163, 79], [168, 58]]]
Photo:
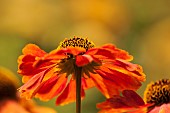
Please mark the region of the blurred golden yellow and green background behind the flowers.
[[[27, 43], [49, 52], [73, 36], [97, 46], [113, 43], [133, 55], [147, 75], [141, 96], [150, 81], [170, 78], [169, 0], [0, 0], [0, 66], [20, 80], [17, 58]], [[86, 91], [82, 113], [96, 113], [96, 103], [104, 100], [97, 89]], [[58, 113], [75, 112], [75, 103], [36, 101]]]

